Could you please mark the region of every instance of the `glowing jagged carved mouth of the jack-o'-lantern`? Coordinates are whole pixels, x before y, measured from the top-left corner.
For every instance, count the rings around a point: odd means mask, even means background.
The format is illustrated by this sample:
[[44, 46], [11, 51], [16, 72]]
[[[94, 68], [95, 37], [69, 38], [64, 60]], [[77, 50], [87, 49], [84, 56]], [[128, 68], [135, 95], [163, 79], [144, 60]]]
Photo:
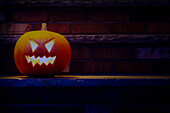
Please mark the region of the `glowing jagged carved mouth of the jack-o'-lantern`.
[[55, 61], [55, 58], [56, 56], [54, 57], [46, 57], [46, 56], [43, 56], [43, 57], [37, 57], [35, 58], [35, 56], [27, 56], [25, 55], [25, 58], [27, 59], [27, 62], [32, 62], [32, 66], [34, 67], [35, 64], [39, 64], [39, 65], [42, 65], [43, 63], [45, 65], [48, 65], [48, 64], [53, 64], [54, 61]]

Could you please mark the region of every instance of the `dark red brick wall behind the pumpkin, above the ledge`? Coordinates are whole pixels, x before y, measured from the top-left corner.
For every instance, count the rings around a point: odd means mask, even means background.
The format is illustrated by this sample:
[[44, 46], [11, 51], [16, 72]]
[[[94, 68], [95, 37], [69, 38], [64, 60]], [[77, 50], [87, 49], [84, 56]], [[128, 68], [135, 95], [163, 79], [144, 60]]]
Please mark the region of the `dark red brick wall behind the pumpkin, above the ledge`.
[[47, 29], [72, 47], [70, 74], [169, 74], [166, 0], [1, 1], [0, 73], [16, 73], [13, 51], [25, 32]]

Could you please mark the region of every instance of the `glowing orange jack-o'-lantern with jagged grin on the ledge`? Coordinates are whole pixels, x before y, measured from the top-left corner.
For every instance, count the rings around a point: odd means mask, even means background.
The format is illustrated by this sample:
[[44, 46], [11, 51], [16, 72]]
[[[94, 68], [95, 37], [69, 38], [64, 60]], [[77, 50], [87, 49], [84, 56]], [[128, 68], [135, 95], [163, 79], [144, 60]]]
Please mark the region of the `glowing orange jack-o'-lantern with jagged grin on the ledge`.
[[18, 70], [24, 75], [54, 75], [61, 73], [71, 59], [71, 48], [66, 38], [58, 33], [30, 31], [17, 41], [14, 60]]

